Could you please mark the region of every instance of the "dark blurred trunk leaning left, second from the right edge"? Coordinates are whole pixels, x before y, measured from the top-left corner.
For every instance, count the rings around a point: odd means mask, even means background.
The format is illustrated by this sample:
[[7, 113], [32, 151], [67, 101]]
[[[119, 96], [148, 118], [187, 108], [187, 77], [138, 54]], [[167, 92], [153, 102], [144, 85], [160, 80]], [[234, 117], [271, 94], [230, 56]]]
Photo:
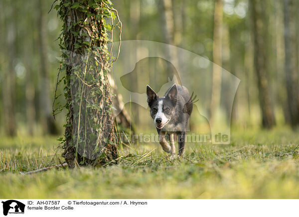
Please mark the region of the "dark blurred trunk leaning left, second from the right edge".
[[262, 113], [262, 125], [271, 128], [275, 125], [275, 116], [271, 101], [271, 91], [267, 74], [267, 25], [263, 0], [251, 0], [251, 12], [254, 35], [254, 65], [257, 74], [259, 101]]

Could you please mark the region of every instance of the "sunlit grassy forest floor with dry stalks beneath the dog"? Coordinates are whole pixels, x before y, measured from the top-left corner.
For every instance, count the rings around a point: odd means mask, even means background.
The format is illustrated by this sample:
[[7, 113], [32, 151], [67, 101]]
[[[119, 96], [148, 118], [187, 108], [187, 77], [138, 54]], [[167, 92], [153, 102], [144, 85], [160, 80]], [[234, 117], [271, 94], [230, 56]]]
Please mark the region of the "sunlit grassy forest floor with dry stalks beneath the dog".
[[299, 131], [234, 131], [231, 145], [187, 144], [182, 159], [151, 144], [118, 165], [19, 173], [59, 164], [56, 139], [1, 138], [0, 198], [299, 198]]

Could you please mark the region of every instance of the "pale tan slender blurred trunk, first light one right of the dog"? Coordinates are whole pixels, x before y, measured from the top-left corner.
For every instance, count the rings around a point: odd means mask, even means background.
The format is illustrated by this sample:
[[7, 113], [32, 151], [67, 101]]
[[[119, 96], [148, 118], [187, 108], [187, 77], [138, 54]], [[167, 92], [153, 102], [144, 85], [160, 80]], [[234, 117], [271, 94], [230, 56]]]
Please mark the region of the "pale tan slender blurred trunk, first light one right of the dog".
[[[223, 0], [215, 0], [214, 35], [213, 35], [213, 78], [211, 98], [211, 120], [220, 106], [221, 66], [222, 66], [222, 30], [223, 30]], [[217, 65], [215, 65], [217, 64]], [[220, 67], [219, 67], [220, 66]]]

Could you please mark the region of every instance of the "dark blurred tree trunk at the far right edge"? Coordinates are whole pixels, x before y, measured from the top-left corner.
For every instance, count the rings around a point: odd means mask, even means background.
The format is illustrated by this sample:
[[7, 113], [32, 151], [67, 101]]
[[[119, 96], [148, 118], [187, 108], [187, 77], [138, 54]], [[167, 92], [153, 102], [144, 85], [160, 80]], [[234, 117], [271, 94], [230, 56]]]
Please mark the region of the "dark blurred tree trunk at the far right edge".
[[299, 125], [298, 56], [296, 54], [297, 33], [294, 0], [284, 0], [285, 73], [287, 102], [292, 127]]

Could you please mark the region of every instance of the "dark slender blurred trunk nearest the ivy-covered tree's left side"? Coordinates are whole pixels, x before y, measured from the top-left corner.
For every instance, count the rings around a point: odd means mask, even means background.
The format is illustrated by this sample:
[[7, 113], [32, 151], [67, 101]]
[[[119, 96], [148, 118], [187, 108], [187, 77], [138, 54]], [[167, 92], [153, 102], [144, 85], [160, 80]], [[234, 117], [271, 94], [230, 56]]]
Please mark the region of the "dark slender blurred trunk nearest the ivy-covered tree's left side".
[[45, 11], [43, 9], [43, 0], [38, 0], [38, 41], [40, 55], [40, 112], [44, 131], [50, 134], [57, 134], [58, 130], [55, 120], [52, 116], [51, 99], [50, 99], [50, 81], [48, 72], [48, 49], [47, 49], [47, 32], [45, 22]]

